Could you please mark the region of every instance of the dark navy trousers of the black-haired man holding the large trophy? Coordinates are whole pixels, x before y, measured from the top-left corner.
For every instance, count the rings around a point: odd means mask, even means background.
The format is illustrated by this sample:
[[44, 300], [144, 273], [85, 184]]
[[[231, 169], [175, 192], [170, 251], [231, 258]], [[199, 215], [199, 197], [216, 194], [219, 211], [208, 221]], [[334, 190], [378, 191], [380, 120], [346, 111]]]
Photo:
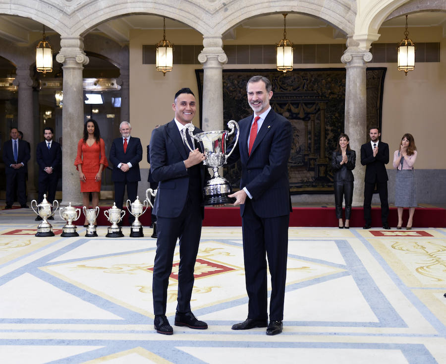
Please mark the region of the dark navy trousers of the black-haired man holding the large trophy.
[[167, 286], [172, 272], [173, 252], [179, 238], [177, 312], [190, 311], [194, 267], [201, 237], [202, 215], [198, 201], [187, 198], [178, 217], [157, 216], [157, 253], [153, 267], [153, 307], [155, 315], [166, 314]]

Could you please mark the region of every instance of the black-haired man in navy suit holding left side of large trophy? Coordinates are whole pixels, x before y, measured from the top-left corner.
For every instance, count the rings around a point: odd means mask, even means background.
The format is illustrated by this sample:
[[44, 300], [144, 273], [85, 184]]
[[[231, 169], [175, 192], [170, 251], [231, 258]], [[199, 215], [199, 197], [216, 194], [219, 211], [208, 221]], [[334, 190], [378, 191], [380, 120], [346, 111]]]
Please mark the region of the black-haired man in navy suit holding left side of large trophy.
[[[166, 317], [167, 285], [172, 271], [173, 251], [179, 238], [178, 303], [175, 325], [207, 329], [190, 308], [194, 284], [194, 266], [200, 242], [204, 208], [201, 206], [205, 183], [205, 156], [198, 148], [192, 152], [184, 138], [184, 125], [195, 115], [195, 96], [189, 88], [175, 94], [172, 104], [175, 118], [156, 128], [150, 141], [150, 169], [158, 184], [154, 214], [157, 215], [157, 252], [153, 268], [154, 326], [158, 333], [171, 335], [173, 329]], [[195, 128], [194, 133], [202, 130]]]

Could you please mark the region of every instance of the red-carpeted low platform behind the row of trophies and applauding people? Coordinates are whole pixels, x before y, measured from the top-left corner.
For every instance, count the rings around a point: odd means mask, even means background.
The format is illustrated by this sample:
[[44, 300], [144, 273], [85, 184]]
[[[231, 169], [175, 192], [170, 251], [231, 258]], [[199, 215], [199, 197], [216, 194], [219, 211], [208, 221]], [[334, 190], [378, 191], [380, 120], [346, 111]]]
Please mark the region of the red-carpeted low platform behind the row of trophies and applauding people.
[[[110, 207], [101, 207], [101, 211], [98, 216], [98, 225], [110, 226], [111, 223], [104, 215], [104, 211]], [[123, 219], [123, 225], [128, 226], [128, 211]], [[407, 222], [409, 211], [404, 210], [403, 224]], [[142, 215], [139, 220], [143, 226], [149, 226], [151, 224], [150, 209]], [[398, 222], [396, 207], [390, 208], [389, 225], [390, 227], [396, 227]], [[76, 225], [83, 225], [84, 215], [78, 221]], [[238, 207], [206, 207], [205, 219], [203, 226], [241, 226], [240, 209]], [[293, 207], [293, 212], [289, 217], [289, 226], [319, 226], [319, 227], [336, 227], [337, 219], [335, 215], [334, 207]], [[364, 218], [362, 207], [353, 207], [351, 220], [351, 227], [364, 226]], [[381, 227], [381, 209], [378, 207], [372, 208], [372, 227]], [[403, 225], [405, 226], [405, 225]], [[413, 218], [413, 226], [417, 228], [445, 228], [446, 227], [446, 209], [443, 208], [428, 208], [420, 207], [415, 209], [415, 215]]]

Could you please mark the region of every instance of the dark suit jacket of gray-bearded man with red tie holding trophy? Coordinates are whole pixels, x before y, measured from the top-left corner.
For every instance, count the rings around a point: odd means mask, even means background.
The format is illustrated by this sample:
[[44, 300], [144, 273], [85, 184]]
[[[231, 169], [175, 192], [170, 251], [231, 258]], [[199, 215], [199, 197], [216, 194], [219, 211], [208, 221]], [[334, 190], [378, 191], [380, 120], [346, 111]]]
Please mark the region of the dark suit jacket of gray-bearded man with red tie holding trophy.
[[[239, 121], [239, 142], [228, 163], [232, 164], [240, 159], [240, 188], [246, 187], [251, 193], [252, 206], [258, 216], [268, 218], [288, 215], [291, 211], [288, 181], [291, 123], [271, 109], [257, 133], [251, 155], [248, 156], [247, 141], [252, 120], [251, 115]], [[244, 205], [240, 206], [240, 213], [243, 216]]]

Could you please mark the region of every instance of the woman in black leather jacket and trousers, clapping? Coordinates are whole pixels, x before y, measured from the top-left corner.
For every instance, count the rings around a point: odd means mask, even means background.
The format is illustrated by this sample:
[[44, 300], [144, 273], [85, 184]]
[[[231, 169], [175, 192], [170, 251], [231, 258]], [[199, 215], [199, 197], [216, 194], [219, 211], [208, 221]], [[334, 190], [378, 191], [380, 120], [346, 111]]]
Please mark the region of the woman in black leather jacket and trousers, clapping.
[[[335, 171], [335, 206], [336, 218], [339, 219], [339, 229], [349, 229], [351, 202], [353, 199], [353, 173], [356, 163], [356, 153], [350, 149], [350, 139], [341, 133], [337, 139], [337, 148], [332, 154], [332, 168]], [[345, 197], [345, 224], [342, 222], [342, 199]]]

